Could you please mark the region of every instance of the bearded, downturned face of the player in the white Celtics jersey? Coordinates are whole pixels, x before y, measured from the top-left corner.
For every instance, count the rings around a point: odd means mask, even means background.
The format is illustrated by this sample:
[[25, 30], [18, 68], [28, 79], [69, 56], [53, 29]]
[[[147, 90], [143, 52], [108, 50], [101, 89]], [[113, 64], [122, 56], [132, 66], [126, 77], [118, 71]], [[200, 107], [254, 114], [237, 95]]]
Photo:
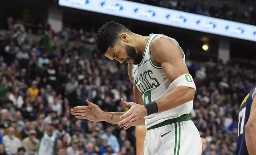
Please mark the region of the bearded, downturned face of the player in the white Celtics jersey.
[[120, 63], [139, 64], [142, 61], [142, 55], [139, 55], [136, 49], [128, 43], [118, 43], [113, 48], [109, 47], [105, 56], [111, 60], [118, 60]]

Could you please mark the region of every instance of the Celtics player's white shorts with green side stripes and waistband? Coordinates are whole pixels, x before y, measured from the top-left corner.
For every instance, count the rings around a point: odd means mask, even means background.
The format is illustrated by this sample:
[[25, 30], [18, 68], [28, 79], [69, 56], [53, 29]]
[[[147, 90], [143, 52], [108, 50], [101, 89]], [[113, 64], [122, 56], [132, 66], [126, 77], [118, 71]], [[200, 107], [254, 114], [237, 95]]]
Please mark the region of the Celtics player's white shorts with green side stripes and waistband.
[[144, 155], [201, 155], [201, 153], [200, 134], [187, 114], [147, 129]]

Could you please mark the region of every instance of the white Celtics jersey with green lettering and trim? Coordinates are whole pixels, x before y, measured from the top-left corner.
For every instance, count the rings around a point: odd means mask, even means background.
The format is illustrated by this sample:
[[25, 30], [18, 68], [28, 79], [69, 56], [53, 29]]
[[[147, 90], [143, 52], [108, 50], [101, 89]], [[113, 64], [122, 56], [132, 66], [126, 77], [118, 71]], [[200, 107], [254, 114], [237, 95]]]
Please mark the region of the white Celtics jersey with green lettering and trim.
[[[163, 72], [163, 69], [161, 68], [161, 66], [158, 66], [151, 60], [149, 45], [153, 39], [158, 37], [167, 37], [172, 42], [178, 45], [178, 42], [175, 39], [165, 36], [163, 34], [149, 35], [147, 45], [143, 53], [142, 62], [140, 62], [140, 64], [138, 65], [133, 65], [133, 68], [132, 68], [132, 78], [135, 85], [138, 87], [139, 91], [142, 93], [144, 104], [158, 100], [159, 98], [162, 98], [163, 96], [165, 96], [167, 93], [169, 93], [174, 89], [171, 86], [171, 82], [169, 81], [169, 79], [167, 79], [167, 76]], [[169, 51], [169, 52], [172, 52], [172, 51]], [[182, 50], [181, 52], [182, 52], [181, 54], [183, 57], [183, 61], [185, 63], [184, 52]], [[172, 103], [170, 102], [170, 104]], [[167, 110], [161, 113], [154, 113], [152, 115], [146, 116], [145, 127], [147, 129], [167, 119], [180, 117], [181, 115], [184, 115], [186, 113], [188, 114], [190, 113], [192, 108], [193, 108], [193, 101], [189, 101], [174, 109]]]

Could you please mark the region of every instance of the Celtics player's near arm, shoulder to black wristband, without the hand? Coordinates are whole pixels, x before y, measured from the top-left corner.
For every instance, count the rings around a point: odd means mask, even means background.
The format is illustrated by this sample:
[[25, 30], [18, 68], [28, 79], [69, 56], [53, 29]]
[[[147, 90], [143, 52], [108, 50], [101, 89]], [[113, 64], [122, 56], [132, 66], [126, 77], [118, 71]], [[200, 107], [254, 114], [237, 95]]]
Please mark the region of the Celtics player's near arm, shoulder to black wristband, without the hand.
[[196, 86], [183, 61], [178, 42], [169, 38], [156, 38], [150, 43], [151, 58], [160, 64], [174, 88], [156, 100], [158, 112], [167, 111], [194, 99]]

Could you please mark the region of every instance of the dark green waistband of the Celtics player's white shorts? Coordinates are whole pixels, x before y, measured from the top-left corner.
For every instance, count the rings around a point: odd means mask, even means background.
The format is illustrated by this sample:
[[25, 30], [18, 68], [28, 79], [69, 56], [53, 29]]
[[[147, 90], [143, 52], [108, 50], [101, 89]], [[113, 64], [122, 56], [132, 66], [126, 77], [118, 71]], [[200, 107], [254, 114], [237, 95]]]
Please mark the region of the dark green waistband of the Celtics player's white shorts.
[[165, 125], [169, 125], [177, 122], [184, 122], [184, 121], [190, 121], [190, 120], [191, 120], [190, 116], [188, 114], [184, 114], [184, 115], [181, 115], [180, 117], [168, 119], [166, 121], [153, 125], [152, 127], [147, 128], [147, 130], [163, 127]]

